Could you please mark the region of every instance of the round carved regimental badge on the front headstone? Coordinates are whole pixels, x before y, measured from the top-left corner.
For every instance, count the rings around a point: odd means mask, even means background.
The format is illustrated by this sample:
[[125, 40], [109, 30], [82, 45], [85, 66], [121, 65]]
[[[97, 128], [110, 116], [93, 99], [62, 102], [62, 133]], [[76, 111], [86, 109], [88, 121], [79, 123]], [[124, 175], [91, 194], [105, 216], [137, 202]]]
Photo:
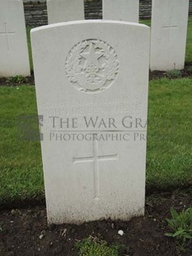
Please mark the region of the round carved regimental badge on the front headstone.
[[102, 40], [83, 40], [73, 46], [65, 65], [67, 77], [81, 92], [102, 92], [115, 81], [119, 61]]

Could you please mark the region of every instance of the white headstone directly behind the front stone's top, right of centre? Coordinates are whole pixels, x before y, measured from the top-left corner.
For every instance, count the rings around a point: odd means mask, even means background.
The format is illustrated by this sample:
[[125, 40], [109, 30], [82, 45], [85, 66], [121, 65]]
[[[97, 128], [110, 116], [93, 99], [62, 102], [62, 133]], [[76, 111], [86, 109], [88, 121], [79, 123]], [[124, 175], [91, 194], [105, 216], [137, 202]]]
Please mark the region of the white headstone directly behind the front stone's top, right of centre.
[[103, 19], [138, 23], [139, 0], [103, 0]]

